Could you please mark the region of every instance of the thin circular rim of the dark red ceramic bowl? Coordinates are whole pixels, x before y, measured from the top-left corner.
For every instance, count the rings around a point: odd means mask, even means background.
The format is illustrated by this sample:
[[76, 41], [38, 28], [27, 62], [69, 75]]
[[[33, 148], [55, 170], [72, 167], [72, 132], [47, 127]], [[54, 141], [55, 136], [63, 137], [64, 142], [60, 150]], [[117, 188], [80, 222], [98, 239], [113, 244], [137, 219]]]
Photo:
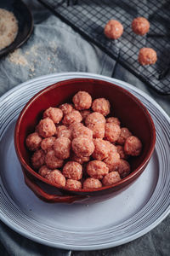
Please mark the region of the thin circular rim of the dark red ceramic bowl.
[[[65, 188], [64, 186], [59, 186], [59, 185], [56, 185], [54, 183], [50, 183], [48, 181], [48, 179], [42, 177], [40, 174], [38, 174], [36, 171], [34, 171], [31, 166], [29, 166], [27, 163], [26, 163], [26, 160], [24, 159], [24, 157], [22, 156], [21, 154], [21, 151], [20, 151], [20, 146], [19, 146], [19, 134], [20, 134], [20, 125], [21, 125], [21, 121], [27, 111], [27, 109], [31, 106], [31, 103], [36, 101], [37, 98], [39, 96], [42, 96], [43, 94], [45, 94], [47, 91], [49, 90], [53, 90], [54, 88], [56, 87], [59, 87], [59, 86], [63, 86], [65, 85], [65, 83], [71, 83], [71, 82], [81, 82], [81, 81], [97, 81], [98, 83], [102, 82], [102, 83], [105, 83], [107, 84], [108, 86], [116, 86], [119, 90], [122, 90], [123, 93], [127, 94], [128, 96], [130, 96], [131, 98], [133, 98], [134, 102], [136, 102], [140, 108], [143, 108], [144, 110], [144, 113], [146, 114], [147, 118], [150, 120], [150, 126], [151, 126], [151, 130], [153, 131], [152, 132], [152, 136], [151, 136], [151, 143], [150, 143], [150, 148], [144, 158], [144, 160], [142, 161], [142, 163], [138, 166], [138, 168], [136, 168], [133, 172], [131, 172], [129, 175], [127, 175], [127, 177], [124, 177], [122, 178], [121, 181], [117, 182], [117, 183], [114, 183], [110, 186], [104, 186], [104, 187], [101, 187], [99, 189], [68, 189], [68, 188]], [[150, 160], [150, 157], [154, 151], [154, 148], [155, 148], [155, 143], [156, 143], [156, 128], [155, 128], [155, 125], [154, 125], [154, 122], [150, 116], [150, 113], [148, 112], [147, 108], [144, 106], [144, 104], [142, 102], [139, 101], [139, 99], [136, 97], [136, 96], [133, 96], [133, 94], [131, 92], [129, 92], [128, 90], [122, 88], [122, 86], [120, 85], [117, 85], [116, 83], [111, 83], [111, 82], [108, 82], [108, 81], [105, 81], [103, 79], [89, 79], [89, 78], [76, 78], [76, 79], [66, 79], [66, 80], [62, 80], [62, 81], [59, 81], [57, 83], [54, 83], [54, 84], [50, 84], [48, 85], [47, 87], [43, 88], [42, 90], [38, 91], [35, 96], [32, 96], [31, 99], [26, 103], [25, 107], [22, 108], [21, 112], [20, 112], [20, 115], [17, 119], [17, 122], [16, 122], [16, 125], [15, 125], [15, 129], [14, 129], [14, 148], [15, 148], [15, 151], [16, 151], [16, 154], [20, 160], [20, 163], [21, 163], [21, 166], [24, 166], [24, 168], [26, 168], [26, 170], [28, 172], [31, 173], [31, 175], [33, 177], [37, 177], [38, 180], [42, 181], [43, 183], [48, 183], [49, 185], [52, 185], [54, 188], [57, 188], [57, 189], [62, 189], [63, 191], [71, 191], [71, 192], [81, 192], [81, 194], [83, 195], [83, 193], [89, 193], [89, 192], [95, 192], [95, 191], [103, 191], [103, 190], [106, 190], [106, 189], [111, 189], [111, 188], [115, 188], [115, 187], [119, 187], [122, 185], [122, 183], [128, 183], [128, 181], [130, 181], [131, 179], [133, 179], [133, 177], [138, 177], [138, 175], [140, 174], [140, 172], [142, 172], [144, 166], [146, 166]]]

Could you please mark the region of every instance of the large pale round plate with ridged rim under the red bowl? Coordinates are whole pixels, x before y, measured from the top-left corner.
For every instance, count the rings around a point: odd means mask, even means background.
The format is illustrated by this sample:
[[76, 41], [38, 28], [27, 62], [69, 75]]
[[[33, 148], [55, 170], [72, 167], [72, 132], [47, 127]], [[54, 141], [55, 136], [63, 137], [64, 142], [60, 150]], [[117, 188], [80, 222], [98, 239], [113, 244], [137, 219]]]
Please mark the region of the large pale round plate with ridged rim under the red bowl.
[[[155, 122], [156, 148], [143, 174], [121, 195], [91, 205], [48, 204], [24, 183], [14, 151], [14, 125], [37, 91], [79, 77], [104, 79], [137, 96]], [[20, 84], [0, 98], [0, 218], [33, 241], [72, 250], [115, 247], [143, 236], [170, 212], [169, 127], [169, 117], [150, 96], [120, 80], [91, 73], [59, 73]]]

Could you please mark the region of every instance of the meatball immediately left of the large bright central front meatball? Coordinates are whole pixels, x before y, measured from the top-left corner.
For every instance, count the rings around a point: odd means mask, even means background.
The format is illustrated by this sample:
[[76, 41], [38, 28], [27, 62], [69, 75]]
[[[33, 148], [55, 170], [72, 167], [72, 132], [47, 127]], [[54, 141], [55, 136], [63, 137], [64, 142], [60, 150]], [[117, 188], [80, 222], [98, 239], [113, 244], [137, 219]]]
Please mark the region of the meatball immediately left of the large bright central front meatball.
[[54, 142], [55, 155], [59, 159], [67, 159], [71, 152], [71, 140], [68, 137], [59, 137]]

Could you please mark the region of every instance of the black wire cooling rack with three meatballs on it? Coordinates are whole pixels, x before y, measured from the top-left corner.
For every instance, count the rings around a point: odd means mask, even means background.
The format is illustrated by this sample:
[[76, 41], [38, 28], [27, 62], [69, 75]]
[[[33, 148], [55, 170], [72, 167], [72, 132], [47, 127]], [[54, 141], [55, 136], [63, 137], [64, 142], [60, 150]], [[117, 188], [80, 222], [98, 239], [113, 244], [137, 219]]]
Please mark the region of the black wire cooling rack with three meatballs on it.
[[[170, 94], [169, 0], [38, 1], [159, 94]], [[150, 32], [143, 37], [131, 29], [132, 20], [138, 16], [150, 21]], [[119, 20], [124, 27], [122, 37], [117, 40], [108, 39], [104, 34], [105, 24], [111, 19]], [[143, 47], [156, 50], [155, 65], [139, 65], [139, 49]]]

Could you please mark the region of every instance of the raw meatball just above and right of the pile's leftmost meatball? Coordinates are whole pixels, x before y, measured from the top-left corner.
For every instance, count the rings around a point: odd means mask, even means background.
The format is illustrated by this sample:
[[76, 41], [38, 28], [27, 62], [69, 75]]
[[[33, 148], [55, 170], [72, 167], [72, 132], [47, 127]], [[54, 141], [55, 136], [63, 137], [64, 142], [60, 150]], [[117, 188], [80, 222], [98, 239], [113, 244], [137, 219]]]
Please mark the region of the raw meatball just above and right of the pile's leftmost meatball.
[[37, 131], [42, 137], [52, 137], [56, 133], [56, 127], [54, 125], [54, 121], [49, 118], [45, 118], [40, 120], [37, 125]]

